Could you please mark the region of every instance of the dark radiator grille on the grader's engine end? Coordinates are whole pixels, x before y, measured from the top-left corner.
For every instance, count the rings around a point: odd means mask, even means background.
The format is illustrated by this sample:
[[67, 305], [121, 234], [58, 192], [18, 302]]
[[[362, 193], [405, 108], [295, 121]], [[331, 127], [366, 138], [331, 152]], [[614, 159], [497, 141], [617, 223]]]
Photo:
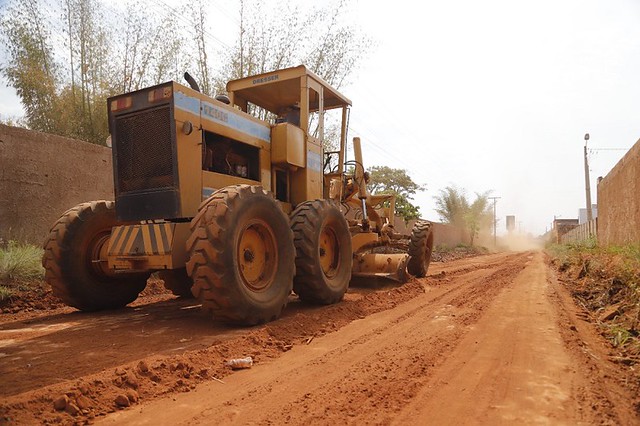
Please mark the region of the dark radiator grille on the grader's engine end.
[[120, 192], [175, 186], [169, 106], [116, 118]]

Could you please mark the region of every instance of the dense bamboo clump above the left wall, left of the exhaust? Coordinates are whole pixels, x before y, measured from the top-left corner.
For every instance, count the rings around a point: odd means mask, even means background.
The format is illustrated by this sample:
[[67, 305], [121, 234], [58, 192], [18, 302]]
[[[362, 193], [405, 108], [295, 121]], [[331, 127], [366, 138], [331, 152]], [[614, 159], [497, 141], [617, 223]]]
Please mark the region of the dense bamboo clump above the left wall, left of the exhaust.
[[[189, 44], [171, 8], [153, 13], [131, 4], [123, 13], [99, 0], [60, 5], [61, 13], [51, 15], [42, 0], [8, 3], [0, 72], [21, 99], [27, 127], [104, 145], [106, 99], [178, 79], [192, 49], [184, 47]], [[117, 14], [122, 19], [105, 19]]]

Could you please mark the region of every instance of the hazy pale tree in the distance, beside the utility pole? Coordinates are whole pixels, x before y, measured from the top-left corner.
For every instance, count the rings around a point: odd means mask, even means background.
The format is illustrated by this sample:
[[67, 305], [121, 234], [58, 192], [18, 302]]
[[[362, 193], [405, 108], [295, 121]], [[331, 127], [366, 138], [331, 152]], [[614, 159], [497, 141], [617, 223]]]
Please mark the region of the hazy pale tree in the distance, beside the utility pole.
[[478, 232], [491, 225], [490, 194], [491, 191], [476, 193], [476, 199], [469, 203], [464, 189], [447, 186], [434, 197], [435, 210], [443, 222], [469, 231], [470, 244], [473, 245]]

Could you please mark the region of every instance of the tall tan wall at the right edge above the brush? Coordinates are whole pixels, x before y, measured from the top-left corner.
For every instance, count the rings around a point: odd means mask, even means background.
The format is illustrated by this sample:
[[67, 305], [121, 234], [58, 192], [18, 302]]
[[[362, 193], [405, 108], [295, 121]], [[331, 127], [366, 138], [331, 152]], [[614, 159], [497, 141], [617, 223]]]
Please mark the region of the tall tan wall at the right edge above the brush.
[[640, 140], [598, 184], [598, 242], [640, 243]]

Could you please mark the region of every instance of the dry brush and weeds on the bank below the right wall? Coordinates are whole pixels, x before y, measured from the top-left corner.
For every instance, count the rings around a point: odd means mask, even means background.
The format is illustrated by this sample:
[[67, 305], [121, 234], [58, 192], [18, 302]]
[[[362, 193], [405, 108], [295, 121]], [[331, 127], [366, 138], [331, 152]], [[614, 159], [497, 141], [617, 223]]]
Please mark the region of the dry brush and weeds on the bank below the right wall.
[[553, 245], [548, 253], [578, 304], [618, 350], [612, 359], [640, 363], [640, 245], [604, 248], [587, 241]]

